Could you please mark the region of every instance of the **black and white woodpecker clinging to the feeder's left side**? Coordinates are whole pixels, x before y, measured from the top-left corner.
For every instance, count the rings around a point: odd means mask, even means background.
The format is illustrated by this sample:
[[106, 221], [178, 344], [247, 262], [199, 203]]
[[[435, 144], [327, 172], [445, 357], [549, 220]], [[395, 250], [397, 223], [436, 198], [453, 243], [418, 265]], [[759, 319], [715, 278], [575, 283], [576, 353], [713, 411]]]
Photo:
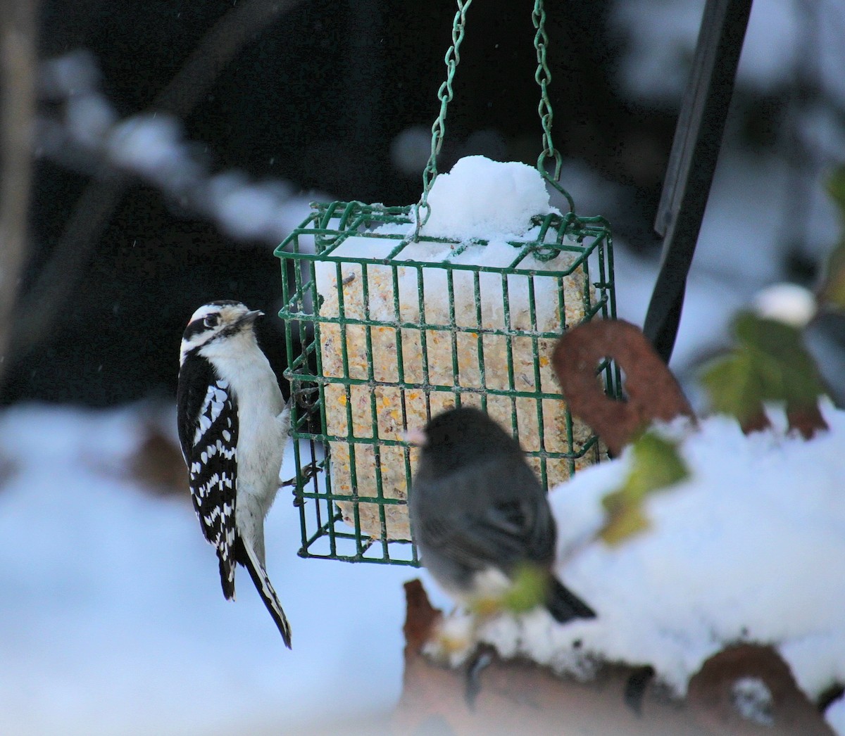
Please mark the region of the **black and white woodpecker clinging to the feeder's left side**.
[[291, 626], [264, 569], [264, 517], [280, 485], [290, 408], [255, 339], [262, 314], [221, 300], [190, 318], [179, 353], [179, 441], [200, 527], [220, 561], [223, 595], [235, 597], [240, 563], [290, 648]]

